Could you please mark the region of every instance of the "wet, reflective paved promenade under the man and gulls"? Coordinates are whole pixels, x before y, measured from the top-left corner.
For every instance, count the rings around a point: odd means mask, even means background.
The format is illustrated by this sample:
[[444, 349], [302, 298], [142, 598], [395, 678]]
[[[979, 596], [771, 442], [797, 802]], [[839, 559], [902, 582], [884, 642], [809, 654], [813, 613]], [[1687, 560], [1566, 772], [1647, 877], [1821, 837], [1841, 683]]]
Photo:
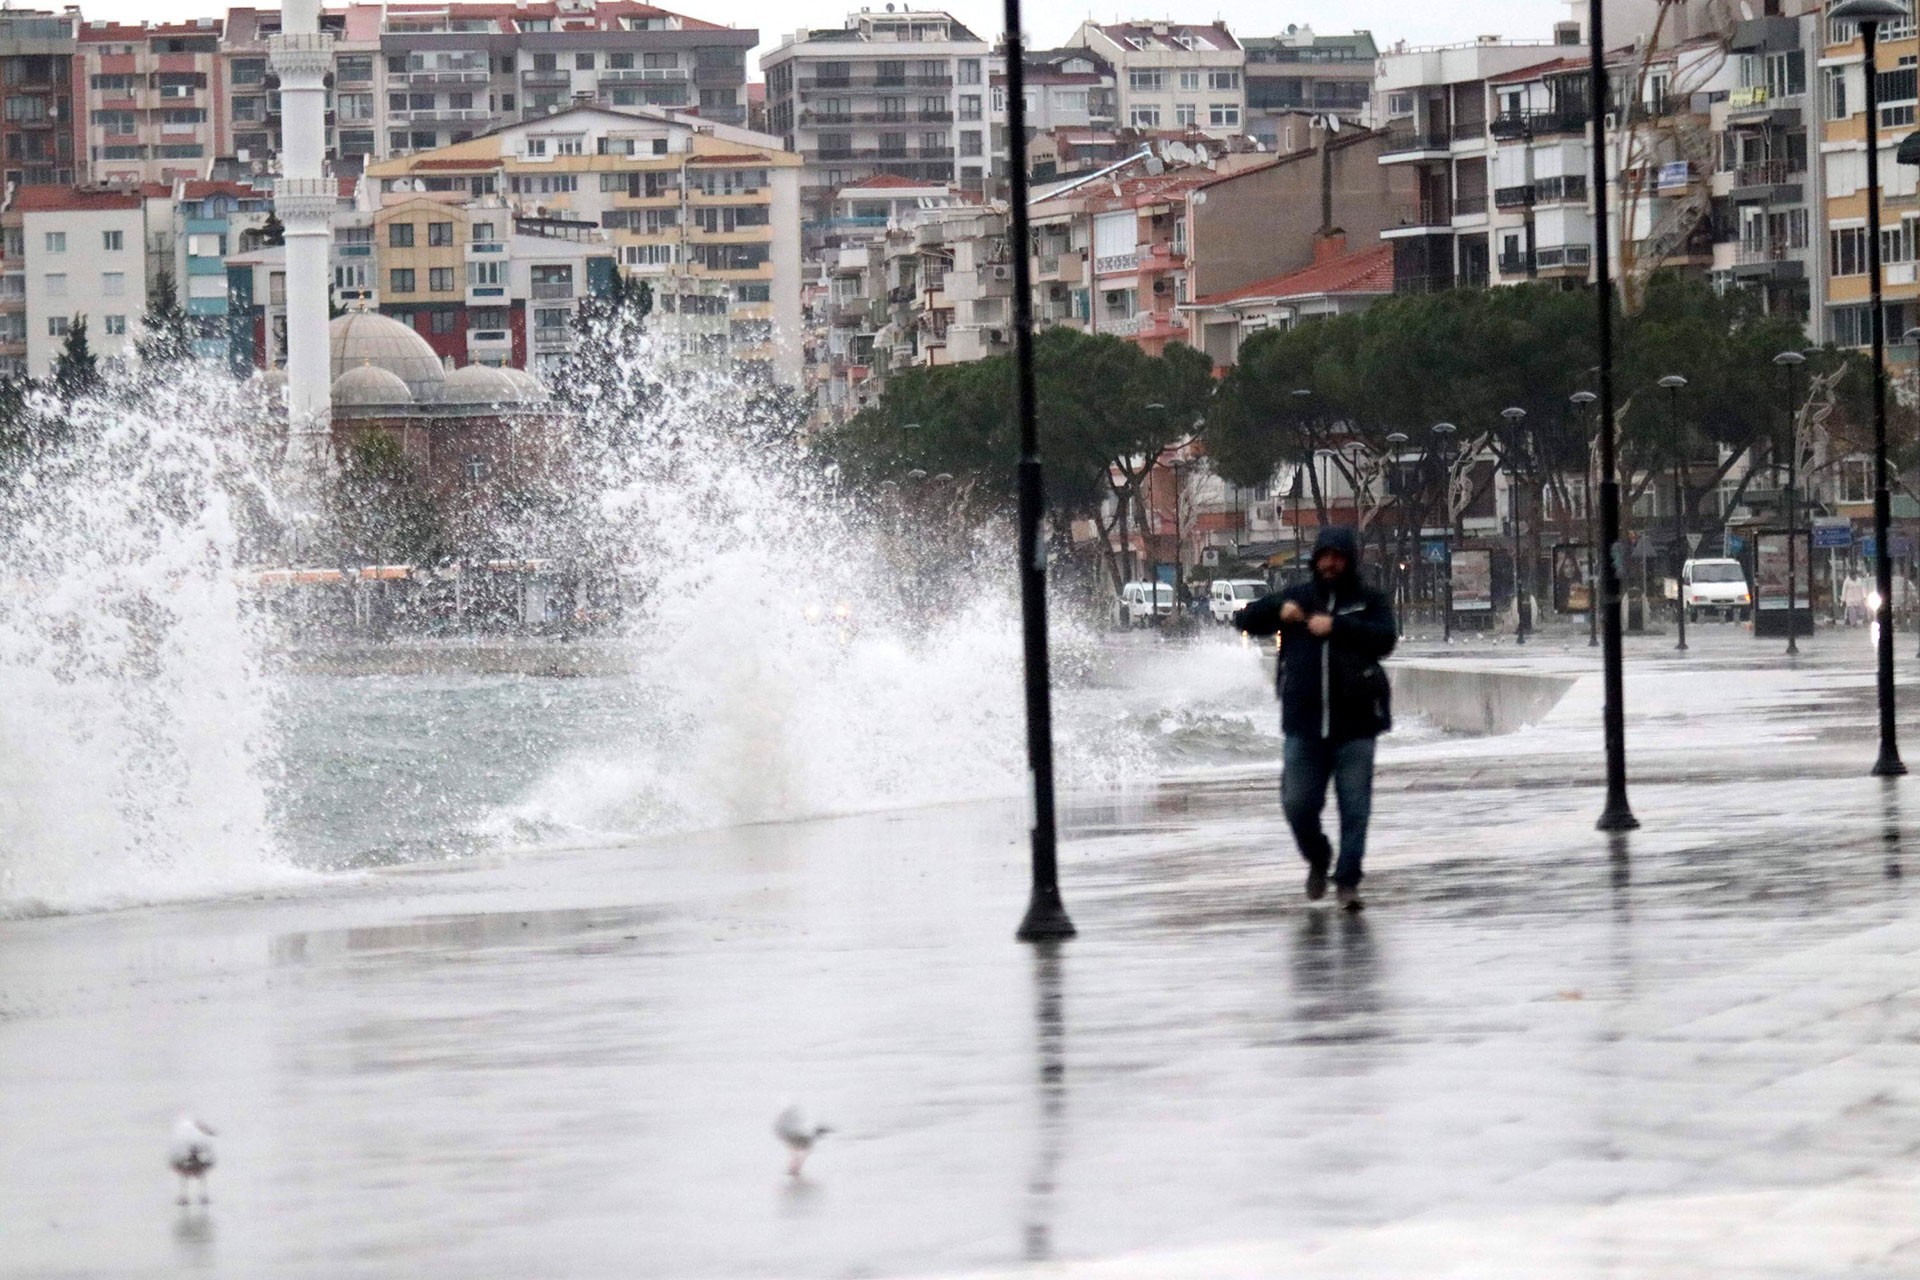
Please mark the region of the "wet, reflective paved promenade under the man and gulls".
[[1920, 783], [1859, 631], [1692, 639], [1613, 842], [1580, 637], [1407, 654], [1582, 679], [1382, 750], [1356, 917], [1213, 771], [1069, 806], [1056, 950], [1018, 804], [0, 923], [0, 1272], [1916, 1274]]

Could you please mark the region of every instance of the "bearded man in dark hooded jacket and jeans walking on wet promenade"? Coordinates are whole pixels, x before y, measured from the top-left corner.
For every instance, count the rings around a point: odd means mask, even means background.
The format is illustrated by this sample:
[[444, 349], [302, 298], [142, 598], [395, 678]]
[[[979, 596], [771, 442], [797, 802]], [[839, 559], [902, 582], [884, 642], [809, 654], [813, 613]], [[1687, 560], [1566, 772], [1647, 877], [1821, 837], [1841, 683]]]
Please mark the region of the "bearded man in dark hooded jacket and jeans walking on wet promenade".
[[[1308, 898], [1361, 908], [1359, 864], [1373, 814], [1373, 739], [1392, 727], [1390, 689], [1380, 658], [1394, 651], [1394, 610], [1359, 580], [1354, 530], [1321, 530], [1313, 578], [1265, 595], [1233, 616], [1248, 635], [1281, 635], [1281, 733], [1286, 737], [1281, 808], [1308, 860]], [[1340, 804], [1340, 860], [1321, 829], [1327, 783]]]

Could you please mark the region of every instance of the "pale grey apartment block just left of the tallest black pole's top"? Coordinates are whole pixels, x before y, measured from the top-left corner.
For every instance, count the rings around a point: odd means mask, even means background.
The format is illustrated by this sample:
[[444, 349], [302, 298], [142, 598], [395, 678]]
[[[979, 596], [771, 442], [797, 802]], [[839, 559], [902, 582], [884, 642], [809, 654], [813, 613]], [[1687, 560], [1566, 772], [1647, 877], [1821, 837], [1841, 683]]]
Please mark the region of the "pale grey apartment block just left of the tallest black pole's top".
[[985, 190], [991, 48], [950, 13], [860, 12], [760, 58], [768, 129], [804, 163], [818, 217], [876, 175]]

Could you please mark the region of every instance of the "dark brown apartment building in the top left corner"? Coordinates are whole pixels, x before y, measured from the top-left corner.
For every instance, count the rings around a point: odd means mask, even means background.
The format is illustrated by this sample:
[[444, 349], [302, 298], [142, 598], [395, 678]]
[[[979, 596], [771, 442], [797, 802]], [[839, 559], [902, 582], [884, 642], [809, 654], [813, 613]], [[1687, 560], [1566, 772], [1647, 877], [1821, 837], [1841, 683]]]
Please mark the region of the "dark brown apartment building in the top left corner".
[[75, 148], [81, 113], [73, 94], [79, 13], [0, 13], [0, 157], [12, 186], [71, 184], [84, 159]]

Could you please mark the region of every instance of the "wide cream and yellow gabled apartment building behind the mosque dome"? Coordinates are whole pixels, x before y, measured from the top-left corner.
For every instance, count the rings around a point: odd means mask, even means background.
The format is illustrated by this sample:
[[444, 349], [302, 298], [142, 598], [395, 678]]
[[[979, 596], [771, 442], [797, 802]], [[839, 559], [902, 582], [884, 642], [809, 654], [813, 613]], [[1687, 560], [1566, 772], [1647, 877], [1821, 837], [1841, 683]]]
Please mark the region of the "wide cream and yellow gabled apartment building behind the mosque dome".
[[[799, 171], [801, 159], [766, 134], [670, 111], [574, 107], [376, 161], [367, 177], [382, 207], [420, 194], [455, 203], [495, 196], [522, 221], [555, 232], [605, 234], [620, 271], [653, 284], [662, 317], [685, 315], [668, 299], [703, 299], [691, 303], [693, 313], [707, 315], [703, 328], [724, 338], [703, 340], [708, 355], [732, 359], [749, 376], [795, 382], [803, 332]], [[372, 240], [378, 248], [378, 228]], [[451, 253], [445, 263], [417, 263], [405, 296], [388, 269], [378, 280], [380, 309], [415, 299], [432, 284], [419, 273], [432, 267], [453, 267]], [[467, 263], [468, 284], [492, 284], [486, 276], [486, 261]]]

